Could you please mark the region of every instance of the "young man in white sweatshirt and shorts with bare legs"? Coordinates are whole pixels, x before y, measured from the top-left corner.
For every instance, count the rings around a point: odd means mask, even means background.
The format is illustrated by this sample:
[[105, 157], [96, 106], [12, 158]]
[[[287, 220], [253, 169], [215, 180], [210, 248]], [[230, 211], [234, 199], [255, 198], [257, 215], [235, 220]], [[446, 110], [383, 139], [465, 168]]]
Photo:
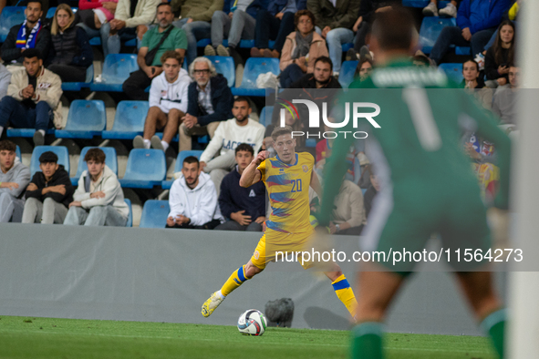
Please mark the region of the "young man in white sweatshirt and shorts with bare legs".
[[[169, 148], [172, 138], [178, 131], [180, 118], [187, 112], [187, 88], [192, 79], [181, 68], [183, 56], [176, 51], [167, 51], [161, 56], [163, 72], [151, 80], [150, 109], [144, 123], [144, 137], [133, 139], [135, 149]], [[163, 138], [155, 136], [157, 130], [163, 131]]]

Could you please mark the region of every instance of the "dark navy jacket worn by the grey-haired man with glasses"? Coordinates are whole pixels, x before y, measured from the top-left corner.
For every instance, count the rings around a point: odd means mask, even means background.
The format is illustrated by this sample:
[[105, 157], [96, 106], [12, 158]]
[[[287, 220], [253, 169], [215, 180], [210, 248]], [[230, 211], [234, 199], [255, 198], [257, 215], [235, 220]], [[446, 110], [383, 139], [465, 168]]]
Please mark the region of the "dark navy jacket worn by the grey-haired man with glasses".
[[210, 78], [210, 87], [212, 88], [212, 107], [213, 111], [215, 111], [212, 113], [212, 115], [202, 116], [202, 112], [198, 106], [199, 94], [196, 87], [196, 81], [193, 81], [188, 87], [187, 113], [198, 118], [199, 125], [206, 126], [215, 121], [225, 121], [229, 118], [233, 118], [233, 95], [230, 87], [228, 87], [228, 82], [223, 75], [218, 74], [217, 76]]

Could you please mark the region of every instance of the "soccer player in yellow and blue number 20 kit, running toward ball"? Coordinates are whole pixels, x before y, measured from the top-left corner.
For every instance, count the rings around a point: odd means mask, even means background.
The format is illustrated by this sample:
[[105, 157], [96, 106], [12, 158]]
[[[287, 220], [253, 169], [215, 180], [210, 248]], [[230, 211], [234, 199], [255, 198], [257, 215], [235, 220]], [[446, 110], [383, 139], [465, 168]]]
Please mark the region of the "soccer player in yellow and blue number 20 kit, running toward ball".
[[[321, 198], [321, 186], [314, 172], [315, 159], [306, 152], [295, 153], [292, 128], [275, 128], [272, 133], [277, 152], [275, 158], [266, 159], [261, 151], [240, 179], [240, 186], [249, 187], [263, 180], [267, 188], [272, 214], [266, 221], [266, 231], [258, 242], [251, 260], [234, 271], [221, 290], [202, 304], [202, 315], [210, 316], [224, 298], [254, 275], [264, 271], [268, 262], [275, 261], [275, 252], [305, 251], [314, 234], [309, 221], [309, 186]], [[307, 269], [313, 262], [303, 263]], [[352, 317], [356, 316], [356, 297], [337, 263], [329, 264], [325, 272], [338, 299], [345, 304]]]

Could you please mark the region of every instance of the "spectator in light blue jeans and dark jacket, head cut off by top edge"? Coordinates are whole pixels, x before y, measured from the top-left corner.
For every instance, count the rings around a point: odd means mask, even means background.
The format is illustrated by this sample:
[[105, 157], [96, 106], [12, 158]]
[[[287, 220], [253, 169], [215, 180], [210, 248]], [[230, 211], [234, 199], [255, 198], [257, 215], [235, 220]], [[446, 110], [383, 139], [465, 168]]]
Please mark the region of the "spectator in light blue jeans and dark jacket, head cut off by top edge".
[[327, 41], [334, 74], [338, 77], [342, 63], [343, 44], [354, 41], [352, 27], [358, 15], [359, 2], [343, 0], [337, 4], [328, 0], [307, 0], [307, 8], [315, 15], [316, 25], [320, 27], [322, 37]]

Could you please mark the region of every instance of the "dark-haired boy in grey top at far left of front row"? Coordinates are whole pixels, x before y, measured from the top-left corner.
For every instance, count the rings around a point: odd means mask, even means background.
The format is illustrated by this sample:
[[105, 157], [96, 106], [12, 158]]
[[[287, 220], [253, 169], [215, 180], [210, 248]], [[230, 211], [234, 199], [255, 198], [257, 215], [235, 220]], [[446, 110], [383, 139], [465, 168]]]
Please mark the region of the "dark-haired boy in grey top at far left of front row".
[[0, 141], [0, 223], [20, 222], [25, 201], [23, 193], [30, 183], [30, 169], [16, 158], [16, 145]]

